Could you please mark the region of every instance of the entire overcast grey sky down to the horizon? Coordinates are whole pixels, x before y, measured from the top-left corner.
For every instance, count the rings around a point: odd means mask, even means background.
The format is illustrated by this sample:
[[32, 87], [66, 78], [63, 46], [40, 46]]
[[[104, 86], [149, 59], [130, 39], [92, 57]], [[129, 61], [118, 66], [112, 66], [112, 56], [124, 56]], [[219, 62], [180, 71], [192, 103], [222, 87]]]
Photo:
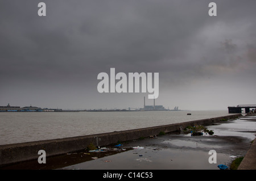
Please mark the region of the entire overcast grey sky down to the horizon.
[[[217, 16], [208, 15], [209, 2]], [[0, 105], [143, 107], [148, 93], [97, 91], [97, 75], [110, 68], [158, 72], [156, 104], [166, 108], [255, 104], [255, 7], [255, 0], [0, 0]]]

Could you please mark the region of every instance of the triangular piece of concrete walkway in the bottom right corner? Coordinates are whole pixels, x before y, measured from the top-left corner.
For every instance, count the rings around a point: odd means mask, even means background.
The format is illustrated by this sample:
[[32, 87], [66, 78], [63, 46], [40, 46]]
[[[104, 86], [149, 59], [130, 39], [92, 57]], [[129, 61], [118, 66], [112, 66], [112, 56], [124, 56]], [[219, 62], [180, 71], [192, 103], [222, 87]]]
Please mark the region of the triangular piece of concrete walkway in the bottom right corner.
[[256, 138], [243, 158], [238, 170], [256, 170]]

